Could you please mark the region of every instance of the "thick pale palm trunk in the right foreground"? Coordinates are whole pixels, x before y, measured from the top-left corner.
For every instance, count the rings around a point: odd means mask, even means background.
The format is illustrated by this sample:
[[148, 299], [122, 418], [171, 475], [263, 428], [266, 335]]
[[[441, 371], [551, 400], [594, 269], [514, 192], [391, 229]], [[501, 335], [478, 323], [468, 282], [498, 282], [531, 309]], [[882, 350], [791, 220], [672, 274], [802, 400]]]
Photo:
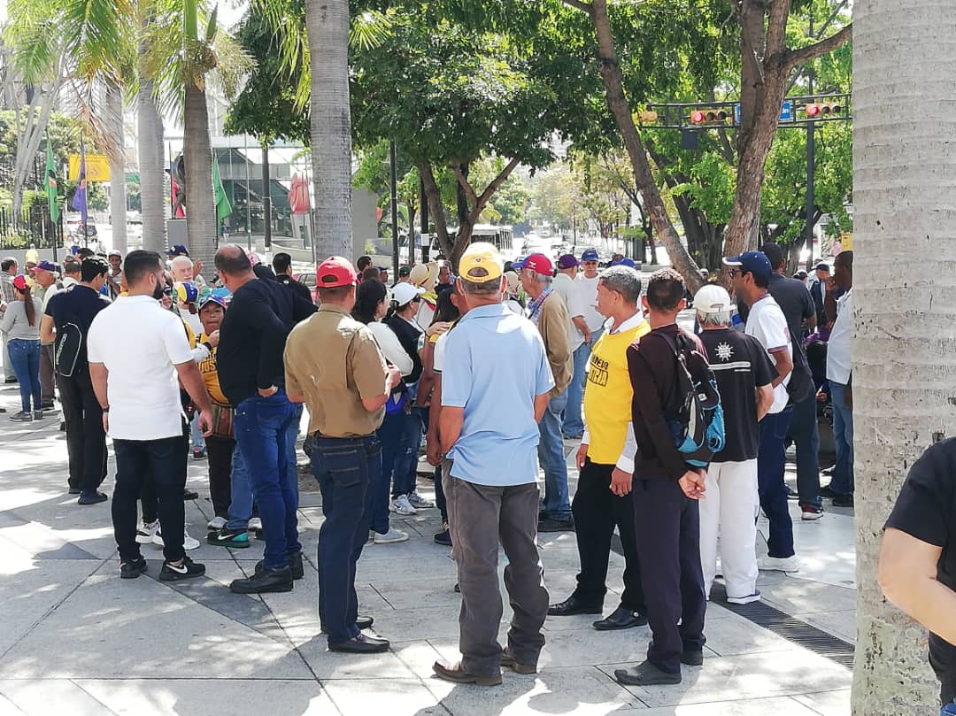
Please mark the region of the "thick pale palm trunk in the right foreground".
[[[935, 0], [857, 0], [854, 9], [853, 385], [857, 455], [857, 656], [853, 713], [929, 716], [939, 687], [926, 633], [880, 594], [883, 523], [909, 466], [951, 437], [956, 340], [948, 313], [956, 214], [952, 8]], [[942, 54], [941, 54], [942, 53]], [[887, 107], [906, 106], [908, 121]], [[904, 261], [887, 260], [900, 256]]]

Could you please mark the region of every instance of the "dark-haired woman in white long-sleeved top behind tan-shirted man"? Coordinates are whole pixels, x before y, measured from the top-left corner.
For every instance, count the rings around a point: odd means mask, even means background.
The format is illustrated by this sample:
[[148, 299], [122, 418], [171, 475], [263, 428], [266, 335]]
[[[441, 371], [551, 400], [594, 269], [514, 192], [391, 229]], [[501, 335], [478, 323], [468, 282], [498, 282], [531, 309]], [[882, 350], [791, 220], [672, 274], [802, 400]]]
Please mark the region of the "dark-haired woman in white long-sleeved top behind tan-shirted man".
[[[402, 348], [399, 337], [392, 329], [381, 323], [388, 310], [388, 289], [380, 281], [362, 281], [356, 291], [356, 305], [352, 316], [366, 324], [379, 341], [382, 355], [391, 365], [402, 371], [402, 376], [411, 374], [414, 364]], [[396, 457], [407, 449], [411, 415], [408, 412], [408, 387], [400, 383], [385, 403], [385, 418], [377, 434], [381, 443], [381, 474], [379, 482], [369, 493], [371, 519], [369, 538], [376, 544], [392, 544], [408, 539], [407, 532], [391, 527], [388, 519], [389, 487], [395, 471]]]

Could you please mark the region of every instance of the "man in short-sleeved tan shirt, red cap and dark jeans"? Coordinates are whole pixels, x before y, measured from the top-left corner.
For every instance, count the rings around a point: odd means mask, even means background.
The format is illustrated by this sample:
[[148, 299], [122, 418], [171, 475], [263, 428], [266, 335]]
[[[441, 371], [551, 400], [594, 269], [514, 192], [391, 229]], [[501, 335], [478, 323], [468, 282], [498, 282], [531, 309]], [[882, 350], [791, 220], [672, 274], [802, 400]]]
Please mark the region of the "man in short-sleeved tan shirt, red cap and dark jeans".
[[319, 264], [321, 306], [289, 334], [285, 368], [289, 400], [309, 407], [315, 438], [312, 471], [325, 514], [318, 533], [319, 622], [330, 651], [370, 654], [387, 651], [389, 642], [361, 633], [372, 619], [359, 618], [356, 562], [368, 536], [366, 496], [381, 478], [375, 431], [402, 374], [386, 367], [375, 336], [349, 315], [356, 282], [352, 264], [340, 256]]

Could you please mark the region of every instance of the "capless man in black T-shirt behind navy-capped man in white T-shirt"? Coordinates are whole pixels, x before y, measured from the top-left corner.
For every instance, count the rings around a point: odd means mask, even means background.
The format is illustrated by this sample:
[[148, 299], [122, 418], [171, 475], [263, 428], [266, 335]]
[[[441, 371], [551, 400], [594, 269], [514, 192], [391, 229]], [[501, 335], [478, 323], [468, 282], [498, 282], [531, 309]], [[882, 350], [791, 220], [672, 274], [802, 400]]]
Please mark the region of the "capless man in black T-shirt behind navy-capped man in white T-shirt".
[[[776, 244], [765, 244], [761, 251], [770, 259], [773, 273], [767, 291], [780, 306], [793, 339], [793, 371], [810, 373], [803, 338], [816, 328], [814, 301], [803, 281], [787, 278], [787, 262]], [[791, 379], [793, 380], [793, 378]], [[813, 380], [811, 378], [811, 380]], [[793, 418], [787, 434], [796, 448], [796, 491], [801, 517], [817, 520], [823, 516], [820, 499], [820, 434], [816, 426], [816, 391], [793, 401]]]

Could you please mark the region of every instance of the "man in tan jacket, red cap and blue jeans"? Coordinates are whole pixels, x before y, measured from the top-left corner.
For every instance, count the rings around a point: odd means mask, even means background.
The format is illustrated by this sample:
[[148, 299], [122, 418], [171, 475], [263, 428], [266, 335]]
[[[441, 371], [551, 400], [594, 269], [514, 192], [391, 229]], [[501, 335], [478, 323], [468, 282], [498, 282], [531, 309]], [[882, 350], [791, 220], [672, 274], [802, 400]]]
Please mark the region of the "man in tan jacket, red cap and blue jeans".
[[561, 432], [561, 413], [568, 403], [568, 383], [574, 373], [568, 309], [564, 299], [552, 288], [554, 267], [543, 253], [532, 253], [524, 261], [512, 264], [512, 268], [520, 271], [521, 285], [531, 299], [528, 317], [544, 339], [554, 375], [551, 401], [538, 423], [538, 462], [544, 470], [544, 507], [538, 519], [538, 532], [565, 532], [575, 529]]

